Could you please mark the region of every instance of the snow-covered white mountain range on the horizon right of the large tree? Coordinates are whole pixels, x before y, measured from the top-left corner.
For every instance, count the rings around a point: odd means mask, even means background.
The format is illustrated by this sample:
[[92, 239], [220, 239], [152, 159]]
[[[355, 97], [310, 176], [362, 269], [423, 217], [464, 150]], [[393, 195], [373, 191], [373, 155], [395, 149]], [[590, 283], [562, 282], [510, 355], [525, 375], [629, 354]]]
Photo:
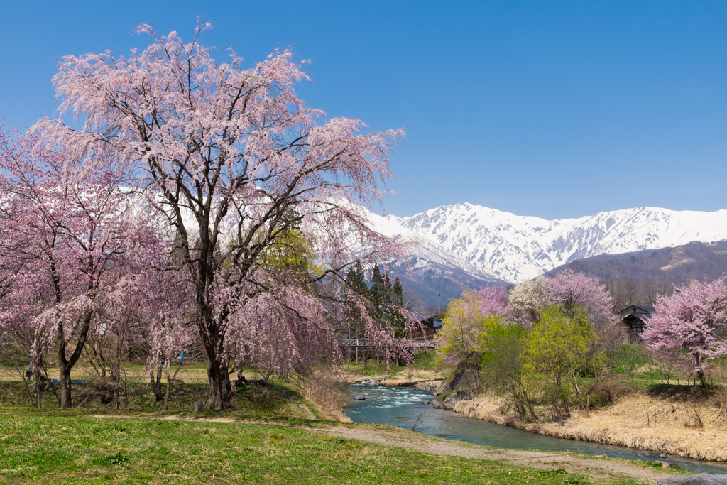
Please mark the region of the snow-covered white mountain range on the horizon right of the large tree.
[[727, 210], [638, 207], [577, 219], [545, 220], [473, 204], [436, 207], [411, 217], [371, 214], [372, 228], [414, 241], [415, 269], [466, 273], [518, 283], [598, 254], [659, 249], [727, 239]]

